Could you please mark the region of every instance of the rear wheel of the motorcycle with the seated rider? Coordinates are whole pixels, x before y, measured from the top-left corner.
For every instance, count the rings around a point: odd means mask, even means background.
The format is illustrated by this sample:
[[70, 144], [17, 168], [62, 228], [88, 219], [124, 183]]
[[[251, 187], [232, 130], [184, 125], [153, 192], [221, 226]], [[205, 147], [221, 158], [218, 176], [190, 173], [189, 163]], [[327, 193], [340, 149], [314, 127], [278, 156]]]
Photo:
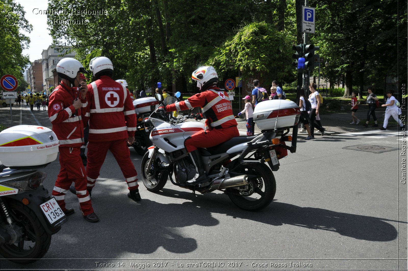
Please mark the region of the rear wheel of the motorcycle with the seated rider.
[[248, 185], [226, 189], [228, 197], [239, 208], [258, 211], [272, 202], [276, 193], [276, 181], [266, 164], [240, 164], [231, 173], [248, 175]]

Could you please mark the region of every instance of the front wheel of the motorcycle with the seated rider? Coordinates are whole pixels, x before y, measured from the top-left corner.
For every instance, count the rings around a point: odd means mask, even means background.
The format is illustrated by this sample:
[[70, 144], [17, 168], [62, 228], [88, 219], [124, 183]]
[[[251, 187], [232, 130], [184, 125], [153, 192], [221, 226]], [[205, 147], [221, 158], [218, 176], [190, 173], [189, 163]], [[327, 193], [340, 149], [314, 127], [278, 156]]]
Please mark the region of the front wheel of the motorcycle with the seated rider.
[[156, 159], [151, 167], [151, 172], [147, 173], [147, 164], [149, 164], [149, 152], [146, 152], [142, 158], [142, 182], [146, 189], [150, 192], [157, 192], [160, 191], [167, 182], [167, 178], [169, 178], [168, 173], [163, 173], [159, 169], [159, 160]]

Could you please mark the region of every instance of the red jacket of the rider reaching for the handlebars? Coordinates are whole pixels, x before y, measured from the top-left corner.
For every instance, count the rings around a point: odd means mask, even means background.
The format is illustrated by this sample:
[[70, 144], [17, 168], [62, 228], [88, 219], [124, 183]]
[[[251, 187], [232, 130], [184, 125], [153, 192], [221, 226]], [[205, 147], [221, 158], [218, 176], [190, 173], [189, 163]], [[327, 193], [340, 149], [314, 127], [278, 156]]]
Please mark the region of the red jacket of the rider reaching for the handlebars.
[[225, 91], [217, 87], [197, 93], [185, 101], [166, 106], [166, 111], [186, 110], [202, 107], [206, 117], [206, 129], [222, 129], [237, 126], [231, 101]]

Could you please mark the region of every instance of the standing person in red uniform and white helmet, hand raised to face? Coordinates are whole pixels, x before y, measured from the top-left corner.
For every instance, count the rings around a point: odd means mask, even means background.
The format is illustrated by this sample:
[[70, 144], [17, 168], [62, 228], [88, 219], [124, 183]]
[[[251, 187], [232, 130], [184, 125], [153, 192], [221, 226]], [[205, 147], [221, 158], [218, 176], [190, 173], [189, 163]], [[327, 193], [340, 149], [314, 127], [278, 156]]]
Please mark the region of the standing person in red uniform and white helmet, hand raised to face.
[[82, 108], [87, 106], [88, 91], [86, 83], [80, 81], [80, 72], [86, 71], [78, 60], [60, 60], [57, 73], [62, 78], [61, 83], [49, 98], [48, 116], [53, 125], [52, 129], [60, 140], [58, 150], [61, 166], [52, 195], [65, 214], [72, 214], [74, 209], [65, 207], [65, 194], [72, 182], [75, 182], [76, 195], [84, 218], [89, 222], [97, 222], [99, 218], [93, 212], [91, 197], [86, 190], [86, 172], [80, 157], [86, 123], [82, 122], [85, 114]]

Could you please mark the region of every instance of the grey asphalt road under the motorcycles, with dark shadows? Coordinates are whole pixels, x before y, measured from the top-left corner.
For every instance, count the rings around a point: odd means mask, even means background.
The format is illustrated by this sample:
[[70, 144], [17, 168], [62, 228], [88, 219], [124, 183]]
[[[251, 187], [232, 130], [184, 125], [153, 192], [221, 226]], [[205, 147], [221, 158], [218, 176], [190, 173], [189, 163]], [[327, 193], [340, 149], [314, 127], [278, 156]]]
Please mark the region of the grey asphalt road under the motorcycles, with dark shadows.
[[[20, 107], [14, 111], [20, 116]], [[24, 105], [21, 117], [22, 124], [51, 127], [46, 111], [31, 113]], [[406, 270], [403, 135], [370, 129], [299, 137], [297, 152], [274, 172], [275, 200], [258, 212], [237, 208], [223, 193], [193, 195], [170, 181], [160, 193], [140, 181], [142, 201], [135, 203], [108, 153], [92, 193], [100, 222], [86, 222], [68, 193], [75, 213], [44, 258], [29, 265], [0, 259], [1, 269]], [[131, 159], [140, 172], [142, 157], [133, 149]], [[43, 171], [51, 191], [58, 159]]]

